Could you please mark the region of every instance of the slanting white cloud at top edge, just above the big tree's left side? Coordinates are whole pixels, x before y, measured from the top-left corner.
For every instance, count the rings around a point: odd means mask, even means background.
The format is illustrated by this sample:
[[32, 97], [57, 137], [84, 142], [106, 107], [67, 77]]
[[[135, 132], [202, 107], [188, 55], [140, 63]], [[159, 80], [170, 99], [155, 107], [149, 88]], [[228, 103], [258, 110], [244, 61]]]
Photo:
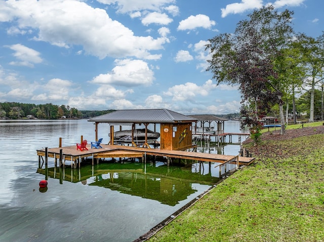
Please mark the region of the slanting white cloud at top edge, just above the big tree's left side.
[[239, 14], [248, 10], [262, 8], [262, 2], [262, 0], [242, 0], [241, 3], [228, 4], [225, 9], [221, 9], [222, 18], [229, 14]]

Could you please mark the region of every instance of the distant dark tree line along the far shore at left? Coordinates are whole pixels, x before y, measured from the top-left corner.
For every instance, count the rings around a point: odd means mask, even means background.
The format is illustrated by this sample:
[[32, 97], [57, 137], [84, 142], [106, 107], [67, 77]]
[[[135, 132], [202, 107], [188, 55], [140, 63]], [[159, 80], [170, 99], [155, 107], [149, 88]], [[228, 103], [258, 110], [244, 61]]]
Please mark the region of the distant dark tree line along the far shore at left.
[[78, 111], [68, 105], [54, 104], [23, 104], [16, 102], [0, 103], [0, 117], [11, 119], [23, 119], [32, 115], [37, 119], [60, 119], [60, 118], [89, 118], [112, 112], [106, 111]]

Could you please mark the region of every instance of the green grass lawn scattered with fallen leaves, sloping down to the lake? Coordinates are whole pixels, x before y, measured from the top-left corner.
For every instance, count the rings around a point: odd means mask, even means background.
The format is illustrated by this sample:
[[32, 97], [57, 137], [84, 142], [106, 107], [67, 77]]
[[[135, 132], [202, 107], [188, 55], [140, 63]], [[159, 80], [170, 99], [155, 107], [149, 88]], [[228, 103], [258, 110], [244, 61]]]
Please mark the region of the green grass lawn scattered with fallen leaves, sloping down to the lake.
[[323, 140], [317, 134], [265, 141], [252, 165], [149, 241], [324, 241]]

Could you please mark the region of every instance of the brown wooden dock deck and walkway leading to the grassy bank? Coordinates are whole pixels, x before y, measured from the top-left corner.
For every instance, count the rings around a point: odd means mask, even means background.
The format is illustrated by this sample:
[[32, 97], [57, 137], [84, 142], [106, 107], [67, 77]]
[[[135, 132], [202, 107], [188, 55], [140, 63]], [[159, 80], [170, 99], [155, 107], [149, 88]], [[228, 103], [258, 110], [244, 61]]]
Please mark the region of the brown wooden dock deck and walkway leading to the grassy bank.
[[[58, 147], [58, 148], [46, 148], [42, 150], [37, 150], [38, 162], [41, 163], [41, 158], [47, 157], [54, 158], [55, 162], [57, 159], [61, 159], [65, 164], [65, 161], [71, 161], [71, 165], [77, 162], [81, 162], [83, 158], [144, 158], [145, 155], [197, 160], [203, 162], [219, 162], [223, 163], [234, 159], [236, 156], [229, 155], [218, 155], [218, 154], [208, 154], [199, 152], [188, 152], [188, 151], [169, 151], [161, 149], [149, 149], [149, 148], [139, 148], [130, 146], [120, 146], [120, 145], [109, 145], [101, 144], [102, 149], [91, 149], [91, 145], [88, 144], [87, 150], [79, 151], [76, 150], [76, 146], [68, 147]], [[253, 162], [252, 157], [238, 157], [239, 165], [250, 165]]]

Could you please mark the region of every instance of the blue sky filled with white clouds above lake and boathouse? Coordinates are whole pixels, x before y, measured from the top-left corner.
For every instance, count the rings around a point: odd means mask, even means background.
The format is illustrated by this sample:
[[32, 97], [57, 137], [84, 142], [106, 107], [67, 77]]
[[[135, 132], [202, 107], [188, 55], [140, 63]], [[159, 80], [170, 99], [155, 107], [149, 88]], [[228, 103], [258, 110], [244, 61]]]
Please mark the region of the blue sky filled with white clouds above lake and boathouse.
[[322, 34], [318, 0], [0, 0], [0, 102], [237, 113], [240, 92], [216, 85], [205, 45], [268, 4]]

